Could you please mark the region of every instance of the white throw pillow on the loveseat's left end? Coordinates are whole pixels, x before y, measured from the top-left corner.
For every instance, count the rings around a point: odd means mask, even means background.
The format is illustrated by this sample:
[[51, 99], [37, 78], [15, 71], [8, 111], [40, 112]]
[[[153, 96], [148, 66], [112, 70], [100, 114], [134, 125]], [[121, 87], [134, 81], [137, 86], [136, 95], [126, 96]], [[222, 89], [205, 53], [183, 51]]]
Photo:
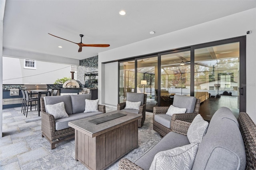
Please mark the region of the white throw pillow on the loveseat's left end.
[[45, 107], [48, 113], [54, 116], [55, 120], [68, 117], [68, 113], [66, 113], [65, 104], [63, 101], [54, 105], [46, 105]]

